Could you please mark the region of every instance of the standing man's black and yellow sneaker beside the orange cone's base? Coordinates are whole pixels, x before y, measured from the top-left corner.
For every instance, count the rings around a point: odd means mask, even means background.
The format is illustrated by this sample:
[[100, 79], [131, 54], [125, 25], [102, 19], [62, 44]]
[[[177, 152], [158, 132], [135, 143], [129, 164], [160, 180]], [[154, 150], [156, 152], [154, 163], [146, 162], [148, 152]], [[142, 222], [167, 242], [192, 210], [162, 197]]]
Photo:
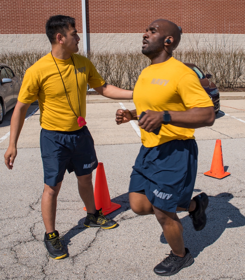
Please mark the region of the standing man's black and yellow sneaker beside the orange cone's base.
[[116, 227], [117, 222], [106, 218], [102, 213], [102, 208], [100, 208], [100, 210], [96, 210], [94, 215], [87, 213], [84, 225], [85, 227], [102, 227], [109, 229]]

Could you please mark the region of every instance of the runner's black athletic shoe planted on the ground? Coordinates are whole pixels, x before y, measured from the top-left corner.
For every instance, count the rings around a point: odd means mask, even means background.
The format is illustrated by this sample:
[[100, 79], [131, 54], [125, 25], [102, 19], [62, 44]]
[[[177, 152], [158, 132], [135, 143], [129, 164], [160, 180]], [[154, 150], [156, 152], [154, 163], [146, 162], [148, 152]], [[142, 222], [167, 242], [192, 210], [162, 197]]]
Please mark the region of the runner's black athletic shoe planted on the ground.
[[178, 273], [180, 269], [190, 266], [194, 260], [190, 254], [190, 251], [185, 248], [186, 255], [182, 258], [173, 254], [172, 250], [168, 257], [166, 257], [162, 262], [156, 265], [153, 271], [160, 276], [170, 276]]

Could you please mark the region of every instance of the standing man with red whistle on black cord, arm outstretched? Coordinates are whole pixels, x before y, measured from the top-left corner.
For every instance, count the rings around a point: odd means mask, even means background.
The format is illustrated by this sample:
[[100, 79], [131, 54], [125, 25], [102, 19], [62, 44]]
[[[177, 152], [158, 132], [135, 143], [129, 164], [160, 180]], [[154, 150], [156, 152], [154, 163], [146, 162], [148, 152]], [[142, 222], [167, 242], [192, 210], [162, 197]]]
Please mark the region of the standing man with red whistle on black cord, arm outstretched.
[[116, 221], [105, 218], [95, 208], [92, 171], [96, 169], [94, 141], [86, 127], [87, 84], [101, 95], [113, 99], [132, 99], [132, 91], [108, 85], [89, 59], [78, 52], [79, 36], [75, 19], [63, 15], [50, 17], [46, 35], [51, 53], [27, 69], [18, 102], [11, 118], [10, 144], [4, 158], [13, 168], [17, 140], [30, 104], [36, 100], [40, 108], [41, 156], [44, 169], [44, 191], [41, 202], [46, 232], [44, 245], [51, 258], [67, 254], [55, 229], [56, 203], [65, 171], [75, 172], [78, 190], [86, 209], [86, 227], [113, 228]]

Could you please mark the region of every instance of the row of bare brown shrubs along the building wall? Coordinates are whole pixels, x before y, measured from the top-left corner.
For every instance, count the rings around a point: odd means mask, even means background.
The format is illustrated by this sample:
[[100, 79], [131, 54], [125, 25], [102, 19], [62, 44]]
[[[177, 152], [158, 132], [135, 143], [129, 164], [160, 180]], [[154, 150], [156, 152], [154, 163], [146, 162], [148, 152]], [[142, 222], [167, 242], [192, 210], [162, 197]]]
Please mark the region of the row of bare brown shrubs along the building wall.
[[[80, 52], [84, 55], [84, 53]], [[20, 53], [0, 52], [0, 62], [8, 64], [23, 80], [26, 69], [46, 52], [31, 50]], [[150, 60], [141, 52], [88, 52], [86, 54], [101, 76], [112, 85], [133, 89], [141, 71]], [[213, 75], [218, 87], [245, 87], [245, 51], [238, 48], [179, 48], [173, 56], [196, 64], [204, 73]]]

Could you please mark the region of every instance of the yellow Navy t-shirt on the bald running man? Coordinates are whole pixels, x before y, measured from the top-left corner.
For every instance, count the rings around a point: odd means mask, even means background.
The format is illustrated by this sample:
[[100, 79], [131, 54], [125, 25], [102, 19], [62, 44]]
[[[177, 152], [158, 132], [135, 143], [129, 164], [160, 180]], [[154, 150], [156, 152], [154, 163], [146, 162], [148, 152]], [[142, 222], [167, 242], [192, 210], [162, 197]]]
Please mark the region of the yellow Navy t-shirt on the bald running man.
[[[213, 102], [202, 88], [197, 74], [171, 57], [143, 69], [133, 92], [137, 115], [142, 111], [186, 111], [210, 107]], [[163, 125], [158, 135], [141, 129], [141, 141], [147, 148], [178, 139], [195, 139], [194, 129]]]

